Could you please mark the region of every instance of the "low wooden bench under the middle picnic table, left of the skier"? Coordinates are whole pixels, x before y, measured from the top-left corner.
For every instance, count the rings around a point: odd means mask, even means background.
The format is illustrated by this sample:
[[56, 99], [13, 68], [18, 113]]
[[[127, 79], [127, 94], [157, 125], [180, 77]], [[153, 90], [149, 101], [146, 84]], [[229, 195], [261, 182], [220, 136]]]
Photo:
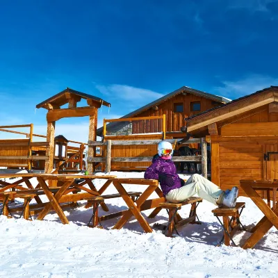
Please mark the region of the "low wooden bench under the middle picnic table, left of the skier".
[[[136, 199], [140, 197], [142, 193], [140, 192], [128, 192], [127, 195], [131, 197], [133, 202], [136, 202]], [[88, 198], [84, 198], [85, 200], [92, 202], [92, 217], [90, 218], [88, 222], [88, 227], [99, 227], [102, 228], [101, 222], [99, 221], [98, 216], [98, 208], [101, 203], [104, 203], [104, 199], [112, 199], [112, 198], [118, 198], [122, 197], [120, 194], [110, 194], [110, 195], [101, 195], [101, 196], [92, 196]], [[90, 222], [92, 221], [92, 224]], [[99, 226], [100, 225], [100, 226]]]

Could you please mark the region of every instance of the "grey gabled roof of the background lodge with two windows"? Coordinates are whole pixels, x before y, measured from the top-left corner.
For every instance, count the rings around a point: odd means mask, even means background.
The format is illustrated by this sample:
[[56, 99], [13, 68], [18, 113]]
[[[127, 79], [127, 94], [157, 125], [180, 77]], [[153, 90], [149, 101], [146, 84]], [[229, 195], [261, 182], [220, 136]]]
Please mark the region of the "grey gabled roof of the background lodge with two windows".
[[[212, 95], [212, 94], [209, 94], [208, 92], [202, 92], [200, 90], [195, 90], [193, 88], [183, 86], [177, 90], [174, 90], [173, 92], [170, 92], [169, 94], [167, 94], [159, 99], [156, 99], [155, 101], [152, 101], [151, 103], [149, 103], [145, 106], [142, 106], [141, 108], [138, 108], [137, 110], [135, 110], [129, 114], [122, 116], [121, 119], [125, 118], [125, 117], [135, 117], [136, 115], [138, 115], [144, 111], [147, 111], [149, 108], [152, 108], [153, 106], [162, 104], [163, 102], [167, 101], [168, 99], [171, 99], [172, 97], [175, 97], [176, 95], [179, 95], [181, 93], [186, 93], [186, 92], [193, 94], [193, 95], [197, 95], [199, 97], [205, 97], [206, 99], [211, 99], [213, 101], [218, 101], [220, 103], [220, 105], [227, 104], [229, 101], [231, 101], [231, 99], [227, 99], [225, 97]], [[109, 126], [110, 129], [117, 130], [117, 129], [121, 129], [125, 124], [124, 124], [124, 122], [122, 122], [122, 123], [116, 122], [116, 123], [109, 123], [107, 125]], [[99, 129], [97, 129], [97, 136], [101, 136], [102, 131], [103, 131], [103, 127], [101, 126]]]

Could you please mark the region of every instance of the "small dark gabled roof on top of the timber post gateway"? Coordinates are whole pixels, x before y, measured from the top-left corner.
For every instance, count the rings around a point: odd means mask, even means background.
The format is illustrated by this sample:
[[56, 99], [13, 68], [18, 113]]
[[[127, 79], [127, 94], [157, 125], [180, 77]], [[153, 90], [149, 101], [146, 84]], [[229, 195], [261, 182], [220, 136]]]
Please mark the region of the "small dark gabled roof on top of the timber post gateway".
[[42, 101], [40, 104], [37, 104], [35, 107], [36, 108], [46, 108], [47, 104], [51, 104], [52, 106], [63, 106], [64, 104], [67, 104], [69, 102], [69, 99], [67, 98], [68, 94], [72, 94], [74, 95], [78, 101], [80, 101], [81, 99], [91, 99], [91, 101], [95, 102], [96, 105], [101, 106], [101, 105], [105, 105], [110, 107], [111, 104], [104, 101], [103, 99], [99, 98], [99, 97], [95, 97], [92, 95], [88, 95], [85, 94], [84, 92], [79, 92], [76, 90], [72, 90], [70, 88], [66, 88], [65, 90], [63, 90], [62, 92], [58, 92], [58, 94], [54, 95], [53, 97], [50, 97], [49, 99], [46, 99], [44, 101]]

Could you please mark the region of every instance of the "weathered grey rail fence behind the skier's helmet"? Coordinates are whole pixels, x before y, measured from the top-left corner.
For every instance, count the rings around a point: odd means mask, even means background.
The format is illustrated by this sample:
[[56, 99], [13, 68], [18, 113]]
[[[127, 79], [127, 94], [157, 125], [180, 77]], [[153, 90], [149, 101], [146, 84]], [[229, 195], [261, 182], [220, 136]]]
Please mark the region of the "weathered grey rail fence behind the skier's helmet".
[[[180, 139], [182, 140], [182, 139]], [[174, 144], [176, 140], [167, 139], [165, 140]], [[158, 145], [161, 140], [106, 140], [106, 142], [89, 141], [88, 147], [103, 146], [106, 147], [106, 156], [104, 157], [93, 157], [88, 156], [87, 163], [105, 163], [106, 172], [111, 172], [111, 162], [151, 162], [153, 156], [135, 156], [135, 157], [113, 157], [111, 156], [112, 146], [138, 146], [138, 145]], [[177, 140], [179, 142], [179, 140]], [[202, 163], [202, 174], [207, 178], [207, 152], [206, 152], [206, 138], [194, 138], [187, 142], [183, 142], [182, 145], [189, 145], [192, 143], [201, 143], [202, 155], [201, 156], [173, 156], [172, 161], [174, 162], [201, 162]]]

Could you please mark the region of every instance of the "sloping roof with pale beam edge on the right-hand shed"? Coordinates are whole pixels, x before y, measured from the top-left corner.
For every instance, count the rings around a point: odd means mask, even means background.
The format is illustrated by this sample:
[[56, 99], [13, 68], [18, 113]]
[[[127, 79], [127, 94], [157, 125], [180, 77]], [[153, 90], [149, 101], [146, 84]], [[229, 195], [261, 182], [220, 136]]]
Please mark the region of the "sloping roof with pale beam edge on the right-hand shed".
[[193, 117], [186, 118], [187, 132], [196, 133], [198, 130], [202, 131], [208, 124], [220, 122], [240, 113], [246, 113], [273, 101], [278, 101], [278, 86], [270, 86], [270, 88], [235, 99], [224, 106], [212, 108]]

